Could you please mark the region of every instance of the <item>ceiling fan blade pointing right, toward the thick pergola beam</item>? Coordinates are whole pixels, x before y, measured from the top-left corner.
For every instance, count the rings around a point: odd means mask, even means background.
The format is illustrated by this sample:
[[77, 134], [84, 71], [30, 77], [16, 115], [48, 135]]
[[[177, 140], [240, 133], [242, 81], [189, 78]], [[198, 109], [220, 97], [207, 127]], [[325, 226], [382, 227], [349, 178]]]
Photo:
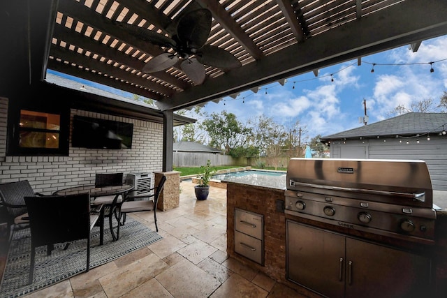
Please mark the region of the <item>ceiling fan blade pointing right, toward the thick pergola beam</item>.
[[201, 64], [217, 68], [238, 68], [242, 66], [233, 54], [214, 45], [204, 45], [196, 52], [196, 57]]

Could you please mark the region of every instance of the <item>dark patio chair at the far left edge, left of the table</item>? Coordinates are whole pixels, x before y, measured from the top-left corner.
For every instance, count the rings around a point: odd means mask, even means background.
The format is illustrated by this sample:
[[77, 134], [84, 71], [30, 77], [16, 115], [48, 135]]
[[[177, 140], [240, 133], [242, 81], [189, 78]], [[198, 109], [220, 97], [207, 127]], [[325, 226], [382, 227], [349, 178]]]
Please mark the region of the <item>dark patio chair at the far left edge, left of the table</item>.
[[13, 237], [13, 232], [29, 227], [24, 197], [34, 197], [36, 195], [42, 194], [34, 193], [28, 180], [0, 184], [0, 204], [5, 206], [8, 211], [7, 228], [9, 241]]

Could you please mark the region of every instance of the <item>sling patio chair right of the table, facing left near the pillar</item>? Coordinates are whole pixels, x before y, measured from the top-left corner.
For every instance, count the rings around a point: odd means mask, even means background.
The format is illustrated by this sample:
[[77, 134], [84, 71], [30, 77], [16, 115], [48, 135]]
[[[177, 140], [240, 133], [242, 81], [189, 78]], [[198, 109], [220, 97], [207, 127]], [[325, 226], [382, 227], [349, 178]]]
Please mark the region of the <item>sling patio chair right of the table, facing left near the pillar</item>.
[[[124, 201], [119, 208], [119, 218], [122, 218], [121, 225], [124, 225], [126, 222], [126, 214], [131, 212], [141, 212], [141, 211], [154, 211], [154, 221], [156, 232], [159, 232], [159, 227], [156, 223], [156, 207], [159, 202], [161, 191], [163, 190], [163, 186], [166, 182], [166, 176], [162, 176], [159, 184], [154, 188], [149, 189], [135, 189], [126, 196]], [[153, 191], [153, 192], [152, 192]], [[138, 195], [138, 193], [146, 193], [151, 192], [152, 194], [144, 194]], [[135, 200], [135, 199], [145, 199], [145, 200]], [[152, 200], [153, 199], [153, 200]]]

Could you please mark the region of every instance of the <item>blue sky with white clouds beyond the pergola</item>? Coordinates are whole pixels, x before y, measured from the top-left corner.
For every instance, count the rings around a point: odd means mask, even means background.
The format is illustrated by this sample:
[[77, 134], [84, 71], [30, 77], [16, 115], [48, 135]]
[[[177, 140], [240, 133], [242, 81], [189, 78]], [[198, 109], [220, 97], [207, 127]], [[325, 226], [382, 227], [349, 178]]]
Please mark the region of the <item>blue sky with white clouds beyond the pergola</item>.
[[[363, 125], [358, 118], [364, 116], [364, 99], [368, 124], [390, 118], [390, 112], [397, 105], [410, 107], [412, 102], [427, 98], [439, 103], [439, 98], [447, 91], [446, 49], [447, 36], [424, 40], [417, 52], [406, 45], [362, 57], [360, 66], [357, 59], [346, 61], [320, 69], [318, 77], [312, 72], [305, 73], [288, 78], [284, 86], [275, 82], [260, 86], [256, 94], [244, 91], [235, 99], [225, 97], [219, 103], [207, 103], [203, 111], [220, 113], [226, 110], [242, 123], [263, 114], [286, 128], [300, 121], [300, 126], [307, 131], [302, 136], [303, 141], [318, 134], [339, 133]], [[434, 72], [430, 73], [432, 61], [437, 62], [432, 64]], [[371, 73], [372, 64], [376, 64], [374, 73]], [[110, 87], [101, 88], [112, 91]], [[115, 89], [113, 92], [132, 98], [132, 94], [124, 91]], [[197, 117], [192, 112], [187, 116]]]

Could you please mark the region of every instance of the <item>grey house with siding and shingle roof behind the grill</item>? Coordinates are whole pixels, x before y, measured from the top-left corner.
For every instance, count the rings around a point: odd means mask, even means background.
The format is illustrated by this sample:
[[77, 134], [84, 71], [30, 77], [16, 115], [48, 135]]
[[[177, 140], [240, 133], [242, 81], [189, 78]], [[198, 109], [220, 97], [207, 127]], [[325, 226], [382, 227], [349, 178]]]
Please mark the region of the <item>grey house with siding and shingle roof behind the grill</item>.
[[447, 191], [447, 113], [408, 113], [321, 137], [331, 158], [418, 159]]

